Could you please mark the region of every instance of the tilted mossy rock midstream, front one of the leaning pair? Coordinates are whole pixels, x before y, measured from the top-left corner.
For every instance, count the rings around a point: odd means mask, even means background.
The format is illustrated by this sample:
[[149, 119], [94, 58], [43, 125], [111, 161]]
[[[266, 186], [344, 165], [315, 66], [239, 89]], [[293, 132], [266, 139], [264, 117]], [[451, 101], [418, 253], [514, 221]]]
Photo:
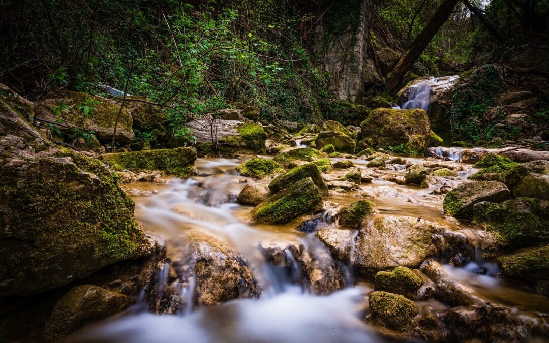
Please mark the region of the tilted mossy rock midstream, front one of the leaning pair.
[[255, 223], [282, 224], [322, 209], [322, 195], [312, 179], [301, 179], [291, 188], [271, 196], [251, 211]]

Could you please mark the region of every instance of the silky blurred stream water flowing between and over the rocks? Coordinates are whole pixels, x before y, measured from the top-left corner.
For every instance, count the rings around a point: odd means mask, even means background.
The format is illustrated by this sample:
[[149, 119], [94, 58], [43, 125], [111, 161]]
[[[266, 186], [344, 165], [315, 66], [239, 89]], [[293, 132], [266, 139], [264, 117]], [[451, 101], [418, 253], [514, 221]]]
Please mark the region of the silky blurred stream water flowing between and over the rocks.
[[[408, 159], [421, 162], [425, 159]], [[333, 159], [335, 161], [335, 159]], [[363, 170], [365, 161], [354, 160]], [[188, 254], [184, 248], [186, 232], [208, 233], [237, 250], [253, 269], [261, 288], [260, 299], [239, 299], [217, 306], [201, 306], [193, 310], [194, 279], [178, 287], [183, 309], [175, 314], [152, 314], [148, 305], [137, 301], [121, 316], [87, 328], [73, 336], [75, 342], [382, 342], [378, 328], [364, 320], [368, 313], [367, 293], [373, 289], [364, 280], [355, 280], [350, 261], [344, 263], [346, 287], [330, 295], [315, 295], [296, 278], [281, 273], [280, 268], [266, 261], [261, 245], [273, 241], [299, 241], [312, 254], [326, 252], [314, 233], [296, 230], [296, 223], [282, 225], [249, 224], [251, 207], [236, 203], [236, 196], [253, 179], [239, 176], [236, 159], [201, 159], [197, 161], [199, 176], [186, 181], [165, 179], [163, 183], [137, 183], [125, 187], [154, 190], [147, 196], [134, 196], [136, 217], [145, 230], [164, 241], [172, 260]], [[452, 162], [462, 169], [453, 184], [463, 182], [470, 165]], [[362, 184], [357, 193], [330, 193], [326, 201], [343, 205], [365, 193], [372, 196], [382, 214], [422, 217], [435, 223], [448, 224], [442, 215], [443, 195], [432, 194], [432, 188], [397, 185], [385, 176], [404, 176], [405, 168], [395, 165], [379, 171], [380, 177]], [[393, 170], [390, 170], [393, 169]], [[330, 173], [345, 173], [334, 169]], [[330, 211], [320, 222], [330, 225]], [[475, 239], [474, 228], [453, 223], [460, 234]], [[356, 238], [357, 230], [352, 233]], [[352, 251], [352, 249], [351, 249]], [[290, 267], [292, 254], [285, 250]], [[474, 252], [472, 253], [474, 254]], [[476, 260], [475, 260], [476, 258]], [[494, 278], [495, 265], [472, 256], [464, 267], [444, 267], [452, 278], [466, 283], [490, 301], [514, 306], [520, 311], [549, 312], [547, 297], [532, 293]], [[479, 274], [478, 269], [483, 272]], [[158, 272], [159, 287], [166, 287], [170, 266]], [[219, 285], [222, 287], [223, 285]], [[430, 301], [429, 306], [446, 308]], [[434, 305], [435, 304], [435, 305]]]

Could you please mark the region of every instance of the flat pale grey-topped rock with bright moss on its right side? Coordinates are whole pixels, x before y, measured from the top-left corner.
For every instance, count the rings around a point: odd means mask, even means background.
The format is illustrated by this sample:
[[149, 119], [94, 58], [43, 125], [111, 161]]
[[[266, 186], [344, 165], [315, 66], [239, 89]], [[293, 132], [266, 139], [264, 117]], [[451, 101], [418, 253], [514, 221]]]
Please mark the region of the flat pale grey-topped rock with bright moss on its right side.
[[260, 124], [240, 120], [199, 119], [186, 123], [186, 126], [196, 138], [200, 157], [211, 155], [214, 151], [212, 126], [222, 156], [233, 158], [239, 154], [265, 154], [267, 133]]

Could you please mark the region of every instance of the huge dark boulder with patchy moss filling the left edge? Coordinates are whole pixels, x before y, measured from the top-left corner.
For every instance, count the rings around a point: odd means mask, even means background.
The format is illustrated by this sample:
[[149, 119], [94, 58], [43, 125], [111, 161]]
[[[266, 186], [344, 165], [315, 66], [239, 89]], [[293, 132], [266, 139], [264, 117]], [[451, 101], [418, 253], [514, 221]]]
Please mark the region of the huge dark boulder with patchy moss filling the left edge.
[[53, 147], [8, 102], [0, 95], [0, 295], [40, 293], [149, 254], [116, 173]]

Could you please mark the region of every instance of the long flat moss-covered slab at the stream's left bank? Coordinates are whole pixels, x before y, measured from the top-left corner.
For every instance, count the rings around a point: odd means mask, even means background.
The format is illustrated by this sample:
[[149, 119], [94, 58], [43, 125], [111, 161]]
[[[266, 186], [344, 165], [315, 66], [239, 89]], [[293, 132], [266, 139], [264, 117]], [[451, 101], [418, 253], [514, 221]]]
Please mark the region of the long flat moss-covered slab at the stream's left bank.
[[197, 150], [194, 148], [175, 148], [160, 150], [131, 151], [129, 153], [103, 154], [99, 159], [133, 172], [161, 170], [165, 173], [187, 178], [196, 175], [194, 161]]

